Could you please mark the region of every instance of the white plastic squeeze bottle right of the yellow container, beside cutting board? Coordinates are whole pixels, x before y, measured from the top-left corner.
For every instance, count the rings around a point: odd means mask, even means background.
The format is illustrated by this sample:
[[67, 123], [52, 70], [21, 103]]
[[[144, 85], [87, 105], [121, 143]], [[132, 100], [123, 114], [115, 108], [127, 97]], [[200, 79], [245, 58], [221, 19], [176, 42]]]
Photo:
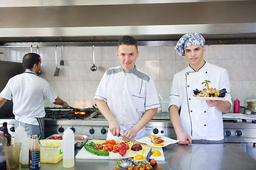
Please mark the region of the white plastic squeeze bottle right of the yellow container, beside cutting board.
[[75, 166], [75, 135], [73, 130], [68, 128], [63, 133], [63, 167]]

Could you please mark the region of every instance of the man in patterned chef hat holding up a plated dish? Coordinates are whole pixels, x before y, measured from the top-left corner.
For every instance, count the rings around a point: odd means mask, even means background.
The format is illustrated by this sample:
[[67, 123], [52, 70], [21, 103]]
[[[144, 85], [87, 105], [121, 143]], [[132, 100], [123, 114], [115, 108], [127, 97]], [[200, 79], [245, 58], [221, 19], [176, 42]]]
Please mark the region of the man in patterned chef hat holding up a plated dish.
[[222, 113], [228, 113], [231, 98], [226, 101], [201, 100], [193, 97], [193, 90], [210, 87], [226, 89], [230, 93], [230, 81], [226, 69], [210, 64], [203, 59], [206, 40], [201, 34], [183, 35], [176, 44], [176, 52], [186, 57], [188, 67], [174, 75], [169, 101], [169, 116], [177, 135], [178, 143], [224, 143]]

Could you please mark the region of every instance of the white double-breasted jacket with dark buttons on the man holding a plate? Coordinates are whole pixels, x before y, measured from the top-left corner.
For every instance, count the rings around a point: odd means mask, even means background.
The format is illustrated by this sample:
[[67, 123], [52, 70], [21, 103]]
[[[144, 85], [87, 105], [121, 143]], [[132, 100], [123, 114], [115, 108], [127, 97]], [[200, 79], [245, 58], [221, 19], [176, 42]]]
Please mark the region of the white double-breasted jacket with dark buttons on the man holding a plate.
[[[201, 84], [205, 80], [211, 81], [210, 88], [226, 89], [230, 93], [226, 69], [206, 62], [198, 72], [188, 66], [174, 75], [169, 106], [181, 108], [181, 127], [192, 140], [223, 140], [222, 112], [192, 97], [194, 89], [206, 89], [205, 84]], [[228, 101], [232, 105], [231, 98]]]

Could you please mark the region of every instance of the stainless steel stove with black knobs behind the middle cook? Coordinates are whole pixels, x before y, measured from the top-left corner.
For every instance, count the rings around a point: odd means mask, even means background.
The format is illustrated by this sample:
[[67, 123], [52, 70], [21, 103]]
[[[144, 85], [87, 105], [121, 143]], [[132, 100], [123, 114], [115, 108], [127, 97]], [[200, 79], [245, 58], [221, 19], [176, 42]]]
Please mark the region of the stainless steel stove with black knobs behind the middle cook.
[[[96, 108], [85, 115], [74, 114], [73, 109], [46, 108], [46, 137], [64, 132], [70, 127], [76, 135], [87, 135], [91, 139], [105, 140], [108, 122]], [[147, 135], [164, 135], [176, 138], [168, 113], [157, 115], [146, 125]]]

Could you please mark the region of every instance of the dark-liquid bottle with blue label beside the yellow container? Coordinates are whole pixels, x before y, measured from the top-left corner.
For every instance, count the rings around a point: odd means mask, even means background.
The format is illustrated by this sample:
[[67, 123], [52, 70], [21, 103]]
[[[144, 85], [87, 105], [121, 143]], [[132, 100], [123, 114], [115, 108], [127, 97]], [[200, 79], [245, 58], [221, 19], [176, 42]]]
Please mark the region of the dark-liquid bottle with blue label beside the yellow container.
[[29, 169], [40, 169], [40, 145], [37, 135], [32, 135], [29, 147]]

